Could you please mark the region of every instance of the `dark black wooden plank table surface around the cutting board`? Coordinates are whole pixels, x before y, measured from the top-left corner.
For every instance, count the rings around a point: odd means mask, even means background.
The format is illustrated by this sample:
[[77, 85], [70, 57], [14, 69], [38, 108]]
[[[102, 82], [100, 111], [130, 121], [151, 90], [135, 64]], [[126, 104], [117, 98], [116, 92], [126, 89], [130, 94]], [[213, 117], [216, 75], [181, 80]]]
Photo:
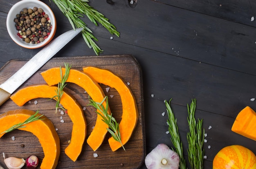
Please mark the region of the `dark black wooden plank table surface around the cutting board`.
[[[56, 36], [72, 29], [54, 3], [43, 1], [56, 15]], [[22, 48], [9, 37], [5, 22], [16, 2], [0, 0], [0, 67], [11, 59], [29, 59], [40, 50]], [[231, 131], [240, 110], [247, 105], [256, 110], [251, 101], [256, 98], [256, 20], [251, 21], [256, 17], [256, 1], [138, 0], [132, 7], [127, 0], [114, 2], [91, 0], [90, 5], [110, 19], [120, 37], [88, 18], [83, 20], [104, 50], [100, 55], [130, 54], [141, 66], [146, 153], [159, 143], [172, 146], [170, 134], [166, 134], [167, 116], [162, 116], [164, 100], [171, 98], [185, 154], [186, 104], [197, 99], [195, 114], [203, 119], [207, 133], [205, 169], [212, 168], [214, 156], [228, 145], [243, 145], [256, 153], [254, 140]], [[78, 36], [55, 57], [90, 55], [94, 51]]]

